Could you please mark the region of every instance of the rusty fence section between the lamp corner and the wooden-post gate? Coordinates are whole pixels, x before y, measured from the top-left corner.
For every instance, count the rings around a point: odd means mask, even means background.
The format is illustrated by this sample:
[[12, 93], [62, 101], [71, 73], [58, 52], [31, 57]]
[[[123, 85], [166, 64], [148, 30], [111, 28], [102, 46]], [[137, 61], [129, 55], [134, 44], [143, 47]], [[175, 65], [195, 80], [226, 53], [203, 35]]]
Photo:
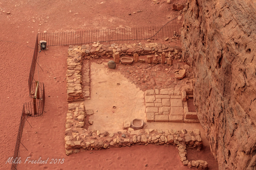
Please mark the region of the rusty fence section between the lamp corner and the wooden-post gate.
[[28, 77], [28, 88], [29, 88], [30, 97], [32, 97], [33, 94], [35, 93], [35, 88], [34, 88], [35, 86], [33, 86], [33, 79], [34, 79], [34, 73], [36, 69], [37, 54], [38, 54], [38, 36], [36, 35], [36, 44], [35, 44], [34, 54], [32, 58], [32, 63], [30, 66], [29, 77]]

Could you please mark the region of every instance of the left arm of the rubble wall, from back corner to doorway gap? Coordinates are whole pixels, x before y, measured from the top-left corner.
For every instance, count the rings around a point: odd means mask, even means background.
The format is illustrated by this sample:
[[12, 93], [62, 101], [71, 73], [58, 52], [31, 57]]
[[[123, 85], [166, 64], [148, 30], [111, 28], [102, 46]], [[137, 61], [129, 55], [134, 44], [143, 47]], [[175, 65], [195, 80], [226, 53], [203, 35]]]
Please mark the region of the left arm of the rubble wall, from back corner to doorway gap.
[[82, 93], [82, 55], [76, 51], [76, 48], [68, 49], [68, 70], [67, 78], [67, 94], [68, 102], [83, 101]]

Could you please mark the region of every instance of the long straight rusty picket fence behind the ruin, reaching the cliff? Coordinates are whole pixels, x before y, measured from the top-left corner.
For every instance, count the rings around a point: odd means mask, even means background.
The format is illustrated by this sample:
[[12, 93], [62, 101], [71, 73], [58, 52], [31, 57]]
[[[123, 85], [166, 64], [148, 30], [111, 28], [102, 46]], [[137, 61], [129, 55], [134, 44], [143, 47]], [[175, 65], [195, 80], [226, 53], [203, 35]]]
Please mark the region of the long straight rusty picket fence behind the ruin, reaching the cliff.
[[47, 41], [47, 46], [74, 45], [106, 41], [162, 39], [180, 34], [181, 25], [114, 28], [89, 31], [38, 33], [38, 40]]

